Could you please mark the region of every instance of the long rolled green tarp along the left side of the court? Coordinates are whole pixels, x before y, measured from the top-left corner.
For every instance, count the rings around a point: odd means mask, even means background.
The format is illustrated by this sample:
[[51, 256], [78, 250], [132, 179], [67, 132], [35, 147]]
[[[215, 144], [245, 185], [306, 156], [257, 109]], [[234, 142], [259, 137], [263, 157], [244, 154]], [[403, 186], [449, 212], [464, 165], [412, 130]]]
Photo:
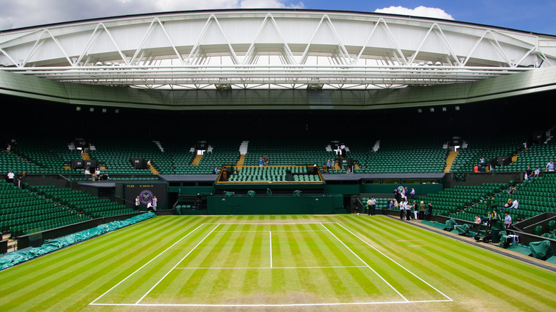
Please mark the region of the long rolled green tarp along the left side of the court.
[[0, 269], [9, 268], [10, 266], [14, 266], [23, 261], [33, 259], [36, 256], [41, 256], [43, 254], [47, 254], [48, 252], [70, 246], [71, 244], [76, 244], [80, 241], [91, 239], [95, 236], [111, 232], [122, 227], [127, 227], [128, 225], [135, 224], [137, 222], [141, 222], [153, 217], [156, 217], [156, 214], [154, 212], [148, 212], [145, 214], [139, 214], [130, 219], [125, 219], [123, 221], [114, 221], [108, 224], [101, 224], [98, 227], [93, 227], [93, 229], [86, 229], [81, 232], [58, 237], [57, 239], [47, 239], [46, 241], [44, 241], [44, 244], [42, 246], [25, 251], [14, 251], [1, 257]]

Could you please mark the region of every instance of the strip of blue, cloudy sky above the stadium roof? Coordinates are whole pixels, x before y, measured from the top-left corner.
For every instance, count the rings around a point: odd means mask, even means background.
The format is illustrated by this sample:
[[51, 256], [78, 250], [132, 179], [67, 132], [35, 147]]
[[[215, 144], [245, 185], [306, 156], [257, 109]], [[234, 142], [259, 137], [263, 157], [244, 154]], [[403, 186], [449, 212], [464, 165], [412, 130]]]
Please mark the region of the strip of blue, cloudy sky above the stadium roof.
[[254, 8], [376, 11], [556, 36], [555, 0], [0, 0], [0, 29], [165, 11]]

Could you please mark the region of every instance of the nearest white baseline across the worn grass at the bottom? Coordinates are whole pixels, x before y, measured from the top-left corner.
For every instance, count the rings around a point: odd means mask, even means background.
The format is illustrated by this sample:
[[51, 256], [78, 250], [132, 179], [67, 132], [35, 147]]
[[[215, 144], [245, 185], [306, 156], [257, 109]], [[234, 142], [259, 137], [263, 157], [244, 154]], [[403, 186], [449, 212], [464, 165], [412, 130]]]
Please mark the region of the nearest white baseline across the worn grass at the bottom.
[[175, 307], [212, 307], [212, 308], [273, 308], [291, 306], [361, 306], [374, 304], [400, 303], [432, 303], [450, 302], [451, 300], [423, 300], [423, 301], [379, 301], [379, 302], [339, 302], [339, 303], [284, 303], [284, 304], [197, 304], [197, 303], [91, 303], [93, 306], [175, 306]]

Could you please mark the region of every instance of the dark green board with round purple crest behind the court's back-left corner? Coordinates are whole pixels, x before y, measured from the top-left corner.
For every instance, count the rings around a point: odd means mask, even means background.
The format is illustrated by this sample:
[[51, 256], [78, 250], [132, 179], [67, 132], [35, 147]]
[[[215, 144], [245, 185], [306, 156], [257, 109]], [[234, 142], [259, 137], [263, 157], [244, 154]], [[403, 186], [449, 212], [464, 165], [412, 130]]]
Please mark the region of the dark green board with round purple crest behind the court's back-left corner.
[[145, 210], [154, 196], [158, 199], [157, 209], [168, 207], [166, 183], [125, 183], [124, 194], [126, 207], [135, 207], [135, 198], [139, 197], [139, 209]]

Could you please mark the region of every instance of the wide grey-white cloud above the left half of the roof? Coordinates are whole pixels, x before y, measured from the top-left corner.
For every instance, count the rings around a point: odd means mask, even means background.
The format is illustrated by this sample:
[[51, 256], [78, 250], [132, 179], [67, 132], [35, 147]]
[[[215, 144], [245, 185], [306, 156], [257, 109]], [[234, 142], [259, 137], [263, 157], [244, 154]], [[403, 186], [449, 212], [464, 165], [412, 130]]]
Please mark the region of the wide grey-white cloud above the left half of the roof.
[[[297, 2], [297, 3], [296, 3]], [[204, 9], [301, 9], [297, 0], [0, 0], [0, 30], [108, 16]]]

